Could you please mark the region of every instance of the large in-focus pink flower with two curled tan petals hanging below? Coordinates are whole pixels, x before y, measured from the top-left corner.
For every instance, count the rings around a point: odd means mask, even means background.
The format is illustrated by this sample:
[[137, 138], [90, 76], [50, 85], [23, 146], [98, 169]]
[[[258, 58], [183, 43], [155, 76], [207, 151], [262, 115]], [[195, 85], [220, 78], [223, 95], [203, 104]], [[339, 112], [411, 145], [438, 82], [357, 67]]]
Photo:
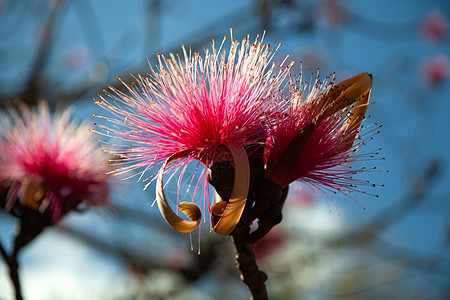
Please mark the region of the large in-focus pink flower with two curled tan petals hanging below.
[[[231, 38], [233, 39], [233, 38]], [[225, 41], [225, 38], [224, 38]], [[122, 141], [112, 154], [125, 158], [114, 174], [132, 171], [133, 176], [157, 180], [157, 203], [166, 221], [183, 232], [194, 230], [201, 220], [200, 209], [192, 202], [179, 203], [191, 221], [178, 217], [170, 208], [163, 189], [165, 169], [181, 169], [192, 160], [206, 167], [214, 162], [231, 161], [234, 184], [230, 199], [220, 199], [211, 208], [218, 216], [214, 230], [229, 234], [242, 214], [248, 193], [250, 169], [248, 152], [263, 148], [272, 107], [281, 97], [288, 74], [272, 63], [274, 51], [249, 37], [231, 42], [230, 50], [205, 49], [204, 56], [183, 46], [181, 57], [158, 55], [159, 65], [150, 66], [149, 77], [138, 76], [136, 85], [124, 82], [128, 93], [109, 87], [96, 103], [113, 117], [102, 117], [113, 126], [99, 125], [98, 133]], [[283, 63], [282, 63], [283, 64]], [[120, 80], [120, 79], [119, 79]], [[261, 151], [262, 152], [262, 151]], [[153, 166], [160, 171], [146, 175]], [[139, 170], [136, 172], [136, 170]], [[206, 170], [203, 169], [201, 207], [210, 207]], [[199, 185], [196, 185], [198, 188]]]

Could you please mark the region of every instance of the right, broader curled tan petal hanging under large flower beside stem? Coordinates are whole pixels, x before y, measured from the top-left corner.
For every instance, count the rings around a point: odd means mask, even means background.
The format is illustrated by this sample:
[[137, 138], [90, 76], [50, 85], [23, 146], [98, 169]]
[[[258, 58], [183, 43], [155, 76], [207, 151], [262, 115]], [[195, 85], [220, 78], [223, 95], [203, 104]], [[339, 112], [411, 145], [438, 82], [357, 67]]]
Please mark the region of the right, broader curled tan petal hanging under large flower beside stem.
[[219, 202], [211, 208], [213, 222], [214, 218], [219, 218], [213, 226], [214, 232], [222, 235], [230, 234], [239, 222], [247, 201], [250, 184], [250, 166], [244, 147], [240, 145], [226, 145], [226, 147], [233, 157], [233, 190], [229, 201], [222, 201], [220, 196], [217, 196]]

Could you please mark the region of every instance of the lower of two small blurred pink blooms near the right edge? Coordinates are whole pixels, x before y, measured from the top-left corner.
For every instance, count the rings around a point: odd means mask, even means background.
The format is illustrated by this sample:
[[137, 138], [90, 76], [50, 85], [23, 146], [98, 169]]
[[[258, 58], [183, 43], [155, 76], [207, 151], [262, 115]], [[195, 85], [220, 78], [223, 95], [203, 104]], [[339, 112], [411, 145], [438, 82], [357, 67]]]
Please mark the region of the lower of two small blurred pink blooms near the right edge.
[[425, 82], [430, 85], [436, 85], [448, 79], [450, 66], [447, 56], [442, 54], [428, 59], [422, 64], [420, 73]]

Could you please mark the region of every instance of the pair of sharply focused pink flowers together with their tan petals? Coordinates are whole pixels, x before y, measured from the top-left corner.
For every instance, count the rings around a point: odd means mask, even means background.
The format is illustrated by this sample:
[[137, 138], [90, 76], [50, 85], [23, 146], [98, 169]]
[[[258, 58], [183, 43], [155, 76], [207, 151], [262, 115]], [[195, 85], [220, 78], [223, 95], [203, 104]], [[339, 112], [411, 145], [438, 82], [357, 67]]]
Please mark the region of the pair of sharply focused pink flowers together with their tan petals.
[[[146, 186], [156, 180], [160, 211], [179, 231], [196, 228], [201, 210], [188, 201], [178, 208], [190, 220], [173, 212], [163, 176], [167, 170], [183, 174], [192, 160], [205, 166], [201, 206], [208, 207], [213, 229], [220, 234], [233, 231], [255, 182], [284, 188], [300, 179], [342, 192], [367, 184], [352, 178], [361, 170], [343, 166], [364, 157], [355, 152], [365, 140], [355, 140], [369, 104], [372, 76], [363, 73], [337, 85], [332, 79], [317, 79], [307, 86], [290, 77], [294, 62], [286, 63], [288, 57], [274, 61], [276, 49], [263, 39], [231, 38], [228, 52], [222, 50], [225, 38], [219, 48], [213, 41], [204, 56], [184, 46], [181, 57], [159, 54], [158, 67], [150, 66], [148, 77], [139, 75], [134, 85], [119, 78], [127, 92], [108, 86], [96, 99], [112, 116], [96, 116], [111, 125], [96, 124], [95, 131], [121, 141], [105, 149], [120, 157], [121, 167], [113, 174], [131, 172], [138, 181], [148, 179]], [[153, 167], [159, 171], [145, 175]], [[219, 191], [215, 178], [228, 182], [228, 193]], [[217, 191], [212, 206], [206, 179]]]

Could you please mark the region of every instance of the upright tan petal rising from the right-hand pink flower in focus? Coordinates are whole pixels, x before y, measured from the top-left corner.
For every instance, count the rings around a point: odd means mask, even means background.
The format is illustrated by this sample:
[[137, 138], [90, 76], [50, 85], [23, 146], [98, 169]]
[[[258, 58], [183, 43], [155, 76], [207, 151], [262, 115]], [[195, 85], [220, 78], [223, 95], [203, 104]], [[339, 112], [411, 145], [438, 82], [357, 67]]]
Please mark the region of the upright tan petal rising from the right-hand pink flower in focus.
[[[326, 95], [327, 108], [321, 118], [359, 102], [372, 89], [372, 75], [361, 73], [335, 85]], [[356, 105], [355, 108], [361, 107]]]

